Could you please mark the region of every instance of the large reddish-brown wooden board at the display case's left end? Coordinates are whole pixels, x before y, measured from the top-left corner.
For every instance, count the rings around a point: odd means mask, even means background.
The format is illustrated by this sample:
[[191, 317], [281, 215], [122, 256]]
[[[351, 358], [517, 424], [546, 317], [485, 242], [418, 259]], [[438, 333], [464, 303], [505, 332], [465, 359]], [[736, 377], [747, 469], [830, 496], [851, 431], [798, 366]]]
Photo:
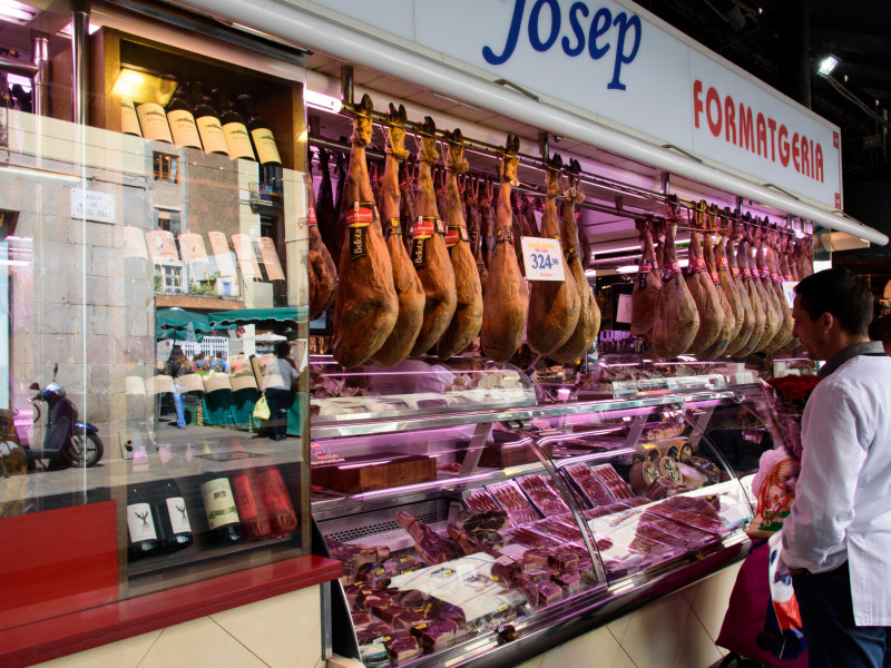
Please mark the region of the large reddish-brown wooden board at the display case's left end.
[[312, 468], [312, 482], [339, 492], [383, 490], [437, 479], [437, 460], [418, 454], [375, 452]]

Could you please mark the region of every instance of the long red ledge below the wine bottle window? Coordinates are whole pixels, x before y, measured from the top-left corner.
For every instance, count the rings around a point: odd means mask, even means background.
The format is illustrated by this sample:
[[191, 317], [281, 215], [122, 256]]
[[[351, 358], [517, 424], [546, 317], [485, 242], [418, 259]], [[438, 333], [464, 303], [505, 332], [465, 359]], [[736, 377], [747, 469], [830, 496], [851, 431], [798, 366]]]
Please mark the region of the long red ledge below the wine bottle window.
[[298, 557], [0, 631], [0, 667], [18, 668], [329, 582], [340, 561]]

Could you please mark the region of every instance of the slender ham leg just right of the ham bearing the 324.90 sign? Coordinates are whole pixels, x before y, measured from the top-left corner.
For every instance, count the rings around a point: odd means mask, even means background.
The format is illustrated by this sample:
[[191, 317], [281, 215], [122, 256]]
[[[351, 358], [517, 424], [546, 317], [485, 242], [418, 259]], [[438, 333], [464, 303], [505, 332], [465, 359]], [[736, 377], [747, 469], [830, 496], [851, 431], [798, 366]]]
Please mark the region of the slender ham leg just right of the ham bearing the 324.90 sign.
[[576, 205], [585, 200], [578, 189], [578, 173], [581, 167], [576, 160], [569, 161], [567, 177], [569, 188], [564, 200], [562, 245], [566, 266], [564, 267], [576, 282], [579, 297], [578, 323], [567, 342], [550, 354], [557, 362], [572, 362], [580, 358], [594, 345], [600, 331], [600, 307], [594, 298], [594, 292], [585, 275], [579, 244], [578, 224], [576, 223]]

